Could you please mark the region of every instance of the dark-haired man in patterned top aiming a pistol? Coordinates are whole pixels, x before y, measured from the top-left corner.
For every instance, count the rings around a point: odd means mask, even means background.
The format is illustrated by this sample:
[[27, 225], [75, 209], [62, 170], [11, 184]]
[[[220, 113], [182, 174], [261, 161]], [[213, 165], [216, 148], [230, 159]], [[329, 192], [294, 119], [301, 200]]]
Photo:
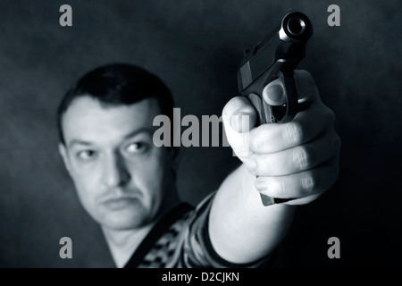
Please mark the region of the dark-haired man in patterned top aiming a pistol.
[[[67, 92], [58, 110], [59, 151], [117, 267], [266, 265], [289, 229], [291, 205], [318, 198], [338, 176], [334, 115], [309, 73], [297, 71], [295, 79], [312, 104], [292, 122], [254, 127], [255, 110], [243, 97], [224, 107], [227, 139], [243, 164], [196, 209], [180, 203], [175, 188], [178, 150], [153, 142], [155, 116], [172, 118], [172, 95], [161, 80], [110, 64]], [[282, 90], [275, 80], [264, 99], [280, 100]], [[259, 192], [297, 199], [263, 206]]]

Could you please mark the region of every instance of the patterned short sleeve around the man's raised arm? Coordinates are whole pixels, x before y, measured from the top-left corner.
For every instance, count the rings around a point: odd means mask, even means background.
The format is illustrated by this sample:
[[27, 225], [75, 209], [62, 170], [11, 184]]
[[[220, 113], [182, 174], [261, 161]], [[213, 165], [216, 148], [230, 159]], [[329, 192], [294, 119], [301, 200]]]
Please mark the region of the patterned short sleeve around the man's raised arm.
[[175, 265], [171, 266], [182, 268], [255, 268], [266, 266], [269, 257], [263, 257], [248, 264], [233, 264], [215, 252], [208, 232], [208, 217], [215, 193], [207, 196], [188, 217], [188, 221], [180, 234], [180, 247], [176, 249], [176, 259], [173, 259]]

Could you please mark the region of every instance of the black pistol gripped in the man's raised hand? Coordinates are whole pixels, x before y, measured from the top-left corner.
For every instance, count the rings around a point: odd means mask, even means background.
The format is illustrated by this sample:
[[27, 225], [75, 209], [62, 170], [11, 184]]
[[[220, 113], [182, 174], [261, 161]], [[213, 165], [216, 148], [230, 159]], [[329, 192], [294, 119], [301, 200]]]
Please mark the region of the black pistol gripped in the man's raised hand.
[[[278, 28], [252, 49], [244, 51], [238, 71], [239, 93], [247, 97], [258, 114], [257, 125], [290, 122], [307, 102], [299, 102], [293, 71], [306, 55], [306, 44], [313, 35], [313, 26], [306, 14], [289, 12]], [[286, 102], [269, 105], [263, 90], [272, 80], [281, 79]], [[261, 195], [264, 206], [283, 203], [294, 198], [270, 198]]]

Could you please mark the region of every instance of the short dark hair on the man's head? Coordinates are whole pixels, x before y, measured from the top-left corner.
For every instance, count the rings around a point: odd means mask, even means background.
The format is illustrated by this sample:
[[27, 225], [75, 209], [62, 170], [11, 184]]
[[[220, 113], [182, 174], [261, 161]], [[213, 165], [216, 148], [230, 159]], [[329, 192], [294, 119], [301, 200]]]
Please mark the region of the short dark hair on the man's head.
[[136, 65], [107, 64], [88, 71], [64, 95], [57, 109], [57, 130], [63, 144], [63, 114], [78, 97], [93, 97], [104, 105], [132, 105], [146, 98], [155, 98], [161, 114], [169, 116], [172, 121], [173, 97], [162, 80]]

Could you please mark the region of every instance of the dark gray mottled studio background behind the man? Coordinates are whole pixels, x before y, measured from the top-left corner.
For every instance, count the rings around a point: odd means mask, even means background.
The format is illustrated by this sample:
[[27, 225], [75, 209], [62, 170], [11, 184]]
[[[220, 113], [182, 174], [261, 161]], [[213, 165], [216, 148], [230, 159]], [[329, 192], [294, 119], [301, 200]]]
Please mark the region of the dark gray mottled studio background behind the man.
[[[71, 4], [73, 27], [59, 25]], [[340, 27], [327, 25], [339, 4]], [[57, 153], [55, 109], [84, 72], [113, 62], [154, 71], [181, 114], [221, 114], [236, 71], [293, 8], [314, 36], [301, 64], [337, 114], [339, 181], [297, 209], [282, 266], [401, 265], [400, 1], [1, 1], [0, 266], [113, 267], [96, 223], [81, 208]], [[181, 197], [193, 204], [238, 164], [228, 147], [183, 153]], [[72, 239], [72, 259], [59, 240]], [[327, 240], [340, 240], [340, 259]]]

